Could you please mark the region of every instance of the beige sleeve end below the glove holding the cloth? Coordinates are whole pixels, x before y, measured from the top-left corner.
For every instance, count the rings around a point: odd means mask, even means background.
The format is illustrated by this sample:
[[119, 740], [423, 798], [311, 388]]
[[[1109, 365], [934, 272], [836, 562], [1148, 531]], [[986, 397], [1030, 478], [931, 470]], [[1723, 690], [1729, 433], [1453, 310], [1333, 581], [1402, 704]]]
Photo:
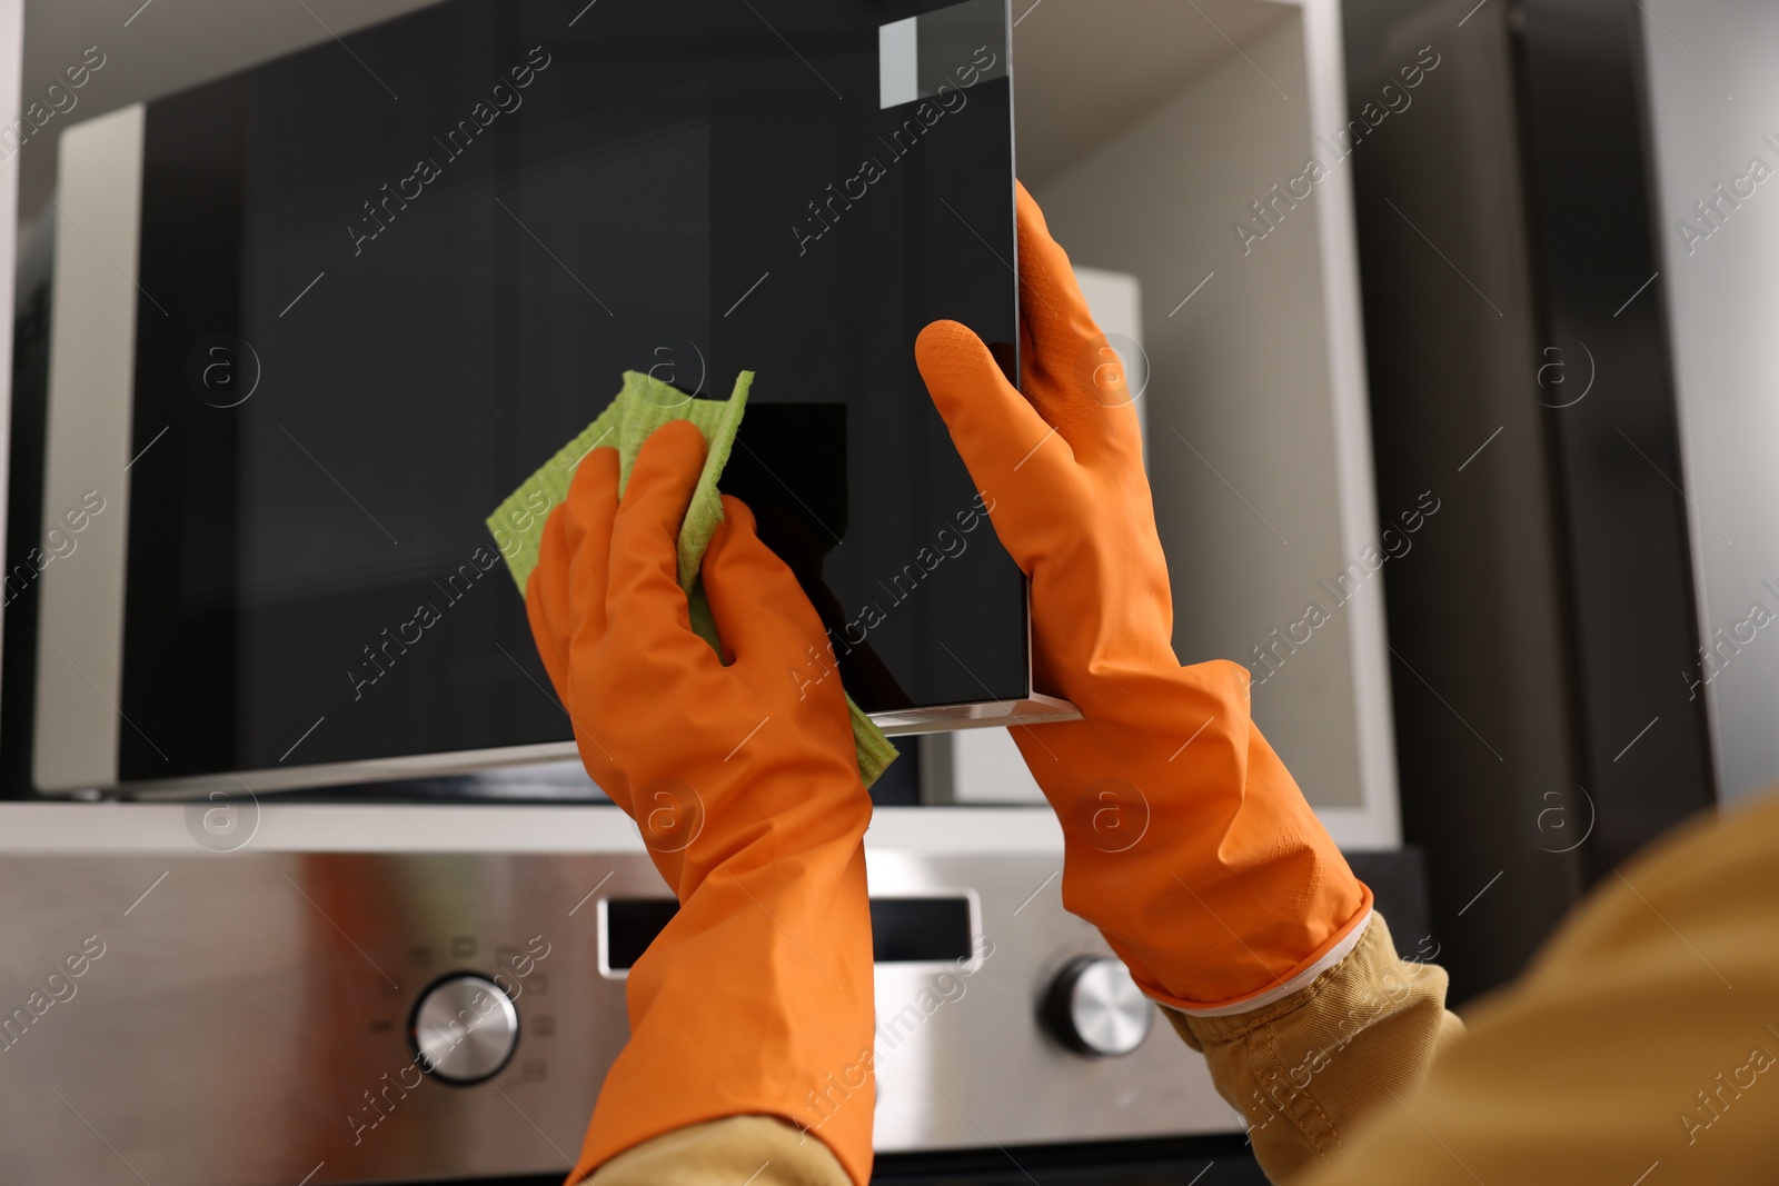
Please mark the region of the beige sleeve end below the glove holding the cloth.
[[587, 1186], [852, 1186], [813, 1136], [772, 1117], [728, 1117], [626, 1149]]

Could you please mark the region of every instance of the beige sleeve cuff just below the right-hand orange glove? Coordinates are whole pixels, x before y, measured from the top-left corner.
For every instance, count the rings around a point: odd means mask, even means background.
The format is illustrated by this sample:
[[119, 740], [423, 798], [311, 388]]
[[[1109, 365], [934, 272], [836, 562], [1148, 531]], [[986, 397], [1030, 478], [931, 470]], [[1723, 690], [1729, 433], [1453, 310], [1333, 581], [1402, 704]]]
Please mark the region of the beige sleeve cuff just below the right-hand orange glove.
[[1267, 1177], [1284, 1182], [1327, 1163], [1420, 1085], [1464, 1030], [1445, 992], [1445, 971], [1398, 958], [1373, 914], [1347, 958], [1283, 1001], [1235, 1017], [1163, 1012], [1247, 1120]]

